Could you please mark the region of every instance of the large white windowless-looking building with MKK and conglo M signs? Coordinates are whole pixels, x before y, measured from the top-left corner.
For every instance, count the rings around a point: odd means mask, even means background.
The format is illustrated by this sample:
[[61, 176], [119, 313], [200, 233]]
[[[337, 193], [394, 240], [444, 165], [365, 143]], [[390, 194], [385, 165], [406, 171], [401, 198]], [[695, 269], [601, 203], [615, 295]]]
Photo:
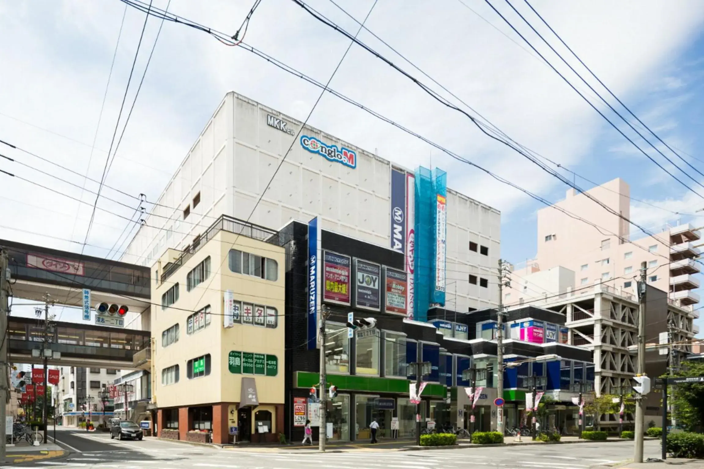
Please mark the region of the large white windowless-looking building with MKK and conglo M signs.
[[[221, 214], [271, 229], [317, 216], [322, 229], [394, 248], [399, 235], [392, 233], [394, 219], [405, 221], [392, 201], [392, 173], [405, 173], [407, 181], [414, 173], [312, 127], [296, 138], [301, 125], [228, 93], [122, 261], [152, 266], [165, 249], [183, 250], [197, 242]], [[498, 210], [447, 189], [448, 308], [467, 311], [498, 303], [500, 222]], [[401, 238], [400, 251], [408, 255], [408, 233]]]

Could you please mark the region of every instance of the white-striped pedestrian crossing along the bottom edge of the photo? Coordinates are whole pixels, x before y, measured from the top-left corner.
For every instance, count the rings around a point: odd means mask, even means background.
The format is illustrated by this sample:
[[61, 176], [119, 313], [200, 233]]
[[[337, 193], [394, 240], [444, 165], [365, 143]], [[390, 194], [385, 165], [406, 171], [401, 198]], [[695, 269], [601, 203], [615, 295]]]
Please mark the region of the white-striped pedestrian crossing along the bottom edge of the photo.
[[[564, 453], [563, 453], [564, 454]], [[71, 454], [61, 461], [39, 461], [31, 467], [46, 468], [202, 468], [202, 469], [589, 469], [591, 465], [614, 463], [608, 459], [519, 453], [505, 448], [494, 451], [463, 449], [431, 451], [394, 451], [384, 449], [317, 453], [290, 451], [201, 451], [151, 449], [147, 451], [96, 451]], [[20, 468], [23, 465], [7, 466]], [[25, 466], [30, 467], [30, 466]]]

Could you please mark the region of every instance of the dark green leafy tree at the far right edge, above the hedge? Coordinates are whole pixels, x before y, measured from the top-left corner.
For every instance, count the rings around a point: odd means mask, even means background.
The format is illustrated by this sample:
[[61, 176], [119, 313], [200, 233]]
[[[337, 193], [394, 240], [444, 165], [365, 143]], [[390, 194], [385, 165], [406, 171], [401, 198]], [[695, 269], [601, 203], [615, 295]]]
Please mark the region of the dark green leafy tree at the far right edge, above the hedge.
[[[704, 364], [693, 361], [685, 362], [676, 376], [704, 376]], [[672, 385], [668, 389], [677, 424], [690, 431], [702, 430], [704, 427], [704, 383]]]

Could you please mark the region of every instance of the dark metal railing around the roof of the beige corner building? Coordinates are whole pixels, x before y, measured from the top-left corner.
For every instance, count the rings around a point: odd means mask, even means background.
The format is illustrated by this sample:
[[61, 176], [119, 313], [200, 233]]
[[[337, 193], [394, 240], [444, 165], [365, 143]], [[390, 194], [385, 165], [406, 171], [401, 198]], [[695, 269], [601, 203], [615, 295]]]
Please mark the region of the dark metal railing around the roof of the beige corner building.
[[208, 241], [215, 238], [215, 235], [217, 235], [220, 231], [229, 231], [230, 233], [234, 233], [238, 236], [245, 236], [246, 238], [256, 239], [276, 246], [280, 245], [278, 231], [270, 230], [264, 226], [252, 224], [248, 221], [240, 220], [228, 215], [221, 215], [220, 218], [215, 220], [215, 222], [210, 225], [205, 233], [194, 238], [194, 242], [182, 251], [178, 259], [174, 262], [169, 262], [166, 264], [164, 271], [161, 274], [161, 282], [172, 276], [174, 272], [180, 268], [180, 266], [193, 257], [193, 255], [196, 254], [196, 252], [198, 252], [203, 245], [208, 243]]

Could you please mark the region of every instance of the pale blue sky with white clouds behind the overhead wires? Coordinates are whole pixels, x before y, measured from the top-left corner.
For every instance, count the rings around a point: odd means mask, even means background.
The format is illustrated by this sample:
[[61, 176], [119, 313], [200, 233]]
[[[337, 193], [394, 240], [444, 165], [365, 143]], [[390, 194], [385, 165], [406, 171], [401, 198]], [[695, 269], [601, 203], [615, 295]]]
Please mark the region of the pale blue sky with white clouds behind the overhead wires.
[[[546, 164], [577, 186], [586, 189], [622, 177], [637, 199], [631, 210], [634, 221], [653, 229], [678, 221], [704, 225], [702, 217], [693, 217], [695, 210], [704, 207], [704, 198], [639, 153], [486, 1], [336, 1], [358, 20], [373, 4], [366, 23], [371, 32], [470, 105], [472, 115], [481, 114], [515, 141], [558, 163], [559, 168]], [[308, 3], [352, 34], [357, 31], [358, 25], [332, 1]], [[511, 3], [570, 65], [588, 76], [564, 46], [558, 47], [558, 39], [524, 1]], [[153, 2], [228, 34], [234, 34], [251, 4], [249, 0]], [[491, 0], [491, 4], [617, 122], [618, 117], [560, 63], [508, 1]], [[703, 143], [698, 130], [704, 117], [704, 38], [700, 34], [704, 9], [698, 0], [536, 0], [531, 5], [650, 129], [704, 172], [704, 155], [698, 152]], [[90, 191], [97, 188], [85, 176], [101, 179], [113, 134], [115, 141], [120, 139], [152, 47], [144, 83], [106, 178], [108, 186], [131, 196], [104, 189], [103, 196], [118, 203], [99, 200], [84, 248], [87, 254], [119, 258], [120, 246], [127, 245], [122, 241], [136, 229], [120, 216], [132, 216], [141, 193], [146, 200], [158, 198], [227, 91], [237, 91], [298, 120], [305, 119], [318, 98], [318, 88], [244, 49], [224, 46], [183, 25], [166, 22], [154, 46], [161, 25], [157, 18], [146, 22], [125, 95], [144, 19], [144, 13], [125, 8], [119, 0], [0, 0], [0, 42], [10, 45], [0, 48], [0, 139], [73, 171], [0, 145], [0, 154], [15, 158], [15, 162], [0, 158], [0, 169], [58, 191], [0, 173], [4, 188], [0, 238], [82, 250], [96, 198]], [[358, 38], [467, 110], [370, 32], [363, 30]], [[263, 0], [244, 41], [320, 82], [327, 82], [349, 45], [348, 39], [290, 0]], [[594, 79], [587, 82], [607, 96]], [[568, 186], [562, 181], [489, 139], [465, 115], [435, 101], [358, 46], [350, 49], [330, 86], [551, 203], [565, 197]], [[123, 98], [125, 111], [115, 131]], [[522, 191], [452, 160], [334, 96], [322, 98], [309, 123], [406, 167], [432, 164], [445, 169], [448, 186], [501, 210], [502, 257], [519, 263], [536, 254], [536, 210], [544, 205]], [[642, 148], [649, 148], [624, 122], [617, 127]], [[704, 187], [698, 185], [704, 176], [662, 144], [658, 148], [696, 181], [654, 150], [647, 153], [704, 195]], [[110, 250], [113, 246], [118, 252]], [[704, 323], [700, 326], [704, 328]]]

